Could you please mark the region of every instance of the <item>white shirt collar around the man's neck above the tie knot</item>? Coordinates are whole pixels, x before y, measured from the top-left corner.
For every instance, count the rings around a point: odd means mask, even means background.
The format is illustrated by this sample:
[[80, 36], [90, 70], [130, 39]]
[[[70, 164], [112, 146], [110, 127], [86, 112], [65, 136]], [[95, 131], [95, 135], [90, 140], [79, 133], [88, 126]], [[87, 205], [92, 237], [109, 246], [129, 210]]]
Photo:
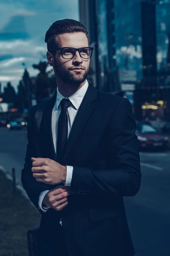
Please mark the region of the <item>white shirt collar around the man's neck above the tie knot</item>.
[[88, 81], [86, 80], [85, 84], [79, 90], [77, 90], [77, 92], [72, 94], [70, 97], [65, 98], [64, 96], [62, 96], [61, 93], [59, 93], [59, 90], [57, 87], [57, 100], [56, 100], [57, 109], [59, 108], [59, 103], [61, 102], [62, 99], [69, 99], [71, 101], [72, 105], [74, 106], [74, 108], [76, 108], [76, 110], [78, 110], [82, 103], [82, 100], [85, 96], [87, 89], [88, 89]]

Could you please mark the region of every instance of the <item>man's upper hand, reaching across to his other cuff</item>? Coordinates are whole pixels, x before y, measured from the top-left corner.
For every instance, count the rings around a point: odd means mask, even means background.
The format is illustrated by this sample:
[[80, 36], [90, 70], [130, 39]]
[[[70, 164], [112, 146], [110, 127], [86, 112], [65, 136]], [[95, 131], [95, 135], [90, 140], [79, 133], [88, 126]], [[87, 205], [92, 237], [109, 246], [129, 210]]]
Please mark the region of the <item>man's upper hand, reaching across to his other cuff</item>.
[[66, 180], [67, 167], [62, 166], [49, 158], [34, 158], [32, 160], [33, 177], [37, 181], [50, 185], [56, 185]]

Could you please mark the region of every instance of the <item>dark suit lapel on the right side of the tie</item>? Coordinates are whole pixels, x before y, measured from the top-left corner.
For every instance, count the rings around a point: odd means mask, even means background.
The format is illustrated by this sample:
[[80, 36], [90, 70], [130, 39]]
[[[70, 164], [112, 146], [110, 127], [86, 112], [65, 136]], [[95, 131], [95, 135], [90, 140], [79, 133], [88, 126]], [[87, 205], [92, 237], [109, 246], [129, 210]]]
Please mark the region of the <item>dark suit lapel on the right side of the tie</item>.
[[95, 108], [96, 98], [97, 98], [97, 90], [91, 85], [89, 85], [88, 90], [85, 93], [85, 96], [77, 112], [76, 118], [74, 119], [74, 123], [72, 125], [71, 132], [68, 137], [68, 141], [65, 147], [65, 152], [63, 155], [64, 162], [69, 152], [71, 151], [71, 148], [76, 142], [80, 132], [82, 131], [82, 128], [87, 122], [88, 117], [90, 116], [91, 112]]

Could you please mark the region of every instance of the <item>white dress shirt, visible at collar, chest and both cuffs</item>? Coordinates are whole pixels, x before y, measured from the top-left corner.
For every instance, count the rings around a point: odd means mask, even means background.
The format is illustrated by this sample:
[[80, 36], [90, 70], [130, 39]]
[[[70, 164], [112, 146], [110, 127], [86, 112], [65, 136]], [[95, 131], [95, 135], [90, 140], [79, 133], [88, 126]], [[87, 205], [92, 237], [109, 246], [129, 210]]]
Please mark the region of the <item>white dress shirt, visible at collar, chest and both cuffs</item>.
[[[61, 100], [69, 99], [71, 101], [71, 105], [68, 107], [68, 110], [67, 110], [68, 137], [69, 137], [71, 127], [73, 125], [74, 119], [77, 115], [77, 112], [79, 110], [79, 107], [82, 103], [82, 100], [85, 96], [87, 89], [88, 89], [88, 81], [86, 80], [85, 84], [79, 90], [77, 90], [77, 92], [72, 94], [70, 97], [65, 98], [64, 96], [61, 95], [61, 93], [59, 93], [59, 90], [57, 87], [57, 99], [54, 104], [54, 108], [52, 111], [52, 119], [51, 119], [51, 128], [52, 128], [52, 136], [53, 136], [55, 152], [57, 151], [57, 130], [58, 130], [58, 119], [59, 119], [59, 115], [61, 112], [61, 105], [60, 105]], [[66, 167], [67, 167], [67, 172], [66, 172], [65, 186], [70, 186], [72, 174], [73, 174], [73, 166], [66, 166]], [[46, 207], [42, 207], [42, 201], [48, 191], [49, 190], [45, 190], [45, 191], [41, 192], [39, 201], [38, 201], [38, 206], [40, 209], [42, 209], [43, 212], [46, 212], [49, 209]]]

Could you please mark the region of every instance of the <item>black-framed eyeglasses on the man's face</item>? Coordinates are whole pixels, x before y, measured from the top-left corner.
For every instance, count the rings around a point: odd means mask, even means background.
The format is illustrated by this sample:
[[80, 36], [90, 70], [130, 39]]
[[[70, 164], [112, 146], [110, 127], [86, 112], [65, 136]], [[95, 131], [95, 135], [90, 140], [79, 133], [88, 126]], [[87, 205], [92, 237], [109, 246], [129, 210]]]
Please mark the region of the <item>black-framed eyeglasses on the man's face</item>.
[[57, 48], [60, 50], [62, 58], [71, 59], [74, 58], [76, 52], [79, 52], [81, 58], [88, 59], [91, 58], [94, 48], [93, 47], [82, 47], [82, 48], [73, 48], [73, 47], [60, 47]]

